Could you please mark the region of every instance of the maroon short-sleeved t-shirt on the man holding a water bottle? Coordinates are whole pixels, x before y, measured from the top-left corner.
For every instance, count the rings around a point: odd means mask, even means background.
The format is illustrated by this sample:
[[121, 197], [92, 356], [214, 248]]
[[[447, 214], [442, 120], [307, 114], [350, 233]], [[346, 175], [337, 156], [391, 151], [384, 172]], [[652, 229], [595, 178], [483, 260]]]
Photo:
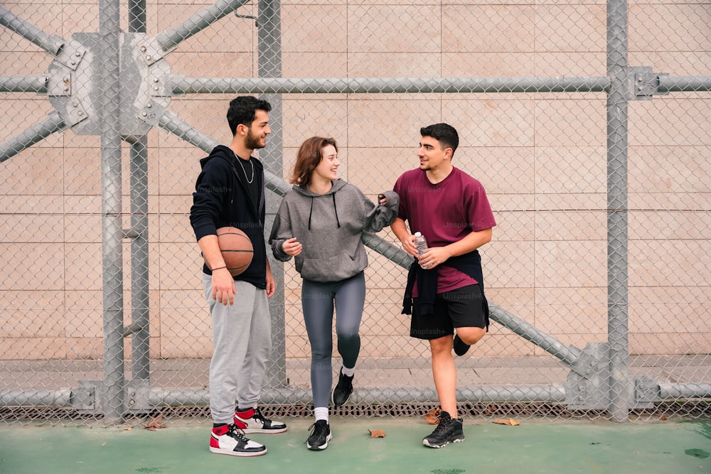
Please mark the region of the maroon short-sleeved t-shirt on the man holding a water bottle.
[[[400, 196], [397, 217], [407, 220], [411, 234], [422, 232], [429, 247], [444, 247], [496, 225], [483, 186], [458, 168], [437, 184], [429, 182], [426, 171], [410, 170], [397, 178], [392, 190]], [[437, 293], [476, 283], [447, 262], [437, 266]], [[417, 296], [417, 285], [412, 296]]]

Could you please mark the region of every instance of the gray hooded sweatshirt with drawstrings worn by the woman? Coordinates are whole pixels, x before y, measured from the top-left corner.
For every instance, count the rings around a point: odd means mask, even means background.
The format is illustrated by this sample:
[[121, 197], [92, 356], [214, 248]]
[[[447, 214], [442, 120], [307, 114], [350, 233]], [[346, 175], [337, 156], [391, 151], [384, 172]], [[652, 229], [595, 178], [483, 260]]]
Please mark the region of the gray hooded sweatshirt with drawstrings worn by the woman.
[[288, 262], [284, 241], [296, 237], [303, 249], [296, 255], [296, 271], [312, 281], [339, 281], [368, 266], [360, 235], [379, 232], [397, 217], [400, 198], [394, 191], [383, 193], [385, 205], [375, 205], [352, 184], [331, 181], [326, 194], [294, 185], [279, 205], [269, 244], [274, 258]]

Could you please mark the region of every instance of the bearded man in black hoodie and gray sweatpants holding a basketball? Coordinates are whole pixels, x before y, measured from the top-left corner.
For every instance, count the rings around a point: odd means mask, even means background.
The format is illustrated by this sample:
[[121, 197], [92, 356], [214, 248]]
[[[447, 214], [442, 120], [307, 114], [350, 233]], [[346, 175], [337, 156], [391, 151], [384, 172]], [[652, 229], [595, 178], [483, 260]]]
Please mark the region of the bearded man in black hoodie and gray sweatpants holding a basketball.
[[[213, 326], [210, 451], [230, 456], [267, 452], [245, 433], [287, 431], [285, 424], [265, 418], [257, 406], [272, 351], [267, 298], [275, 286], [264, 244], [264, 167], [252, 153], [267, 143], [271, 109], [269, 102], [255, 97], [232, 99], [227, 113], [232, 143], [215, 146], [200, 161], [190, 210], [205, 259], [203, 287]], [[252, 242], [252, 263], [238, 276], [230, 274], [220, 252], [220, 227], [237, 227]]]

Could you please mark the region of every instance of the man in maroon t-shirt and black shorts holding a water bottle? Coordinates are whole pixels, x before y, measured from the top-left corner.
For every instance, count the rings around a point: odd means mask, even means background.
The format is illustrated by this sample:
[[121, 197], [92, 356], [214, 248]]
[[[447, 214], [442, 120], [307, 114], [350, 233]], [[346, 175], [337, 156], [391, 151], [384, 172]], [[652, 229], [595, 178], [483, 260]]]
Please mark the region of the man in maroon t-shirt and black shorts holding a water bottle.
[[[393, 188], [400, 196], [400, 210], [391, 228], [405, 252], [419, 261], [412, 264], [405, 291], [406, 300], [412, 296], [410, 336], [429, 340], [434, 387], [442, 406], [437, 429], [422, 443], [443, 448], [464, 441], [451, 350], [464, 355], [486, 334], [488, 306], [476, 249], [491, 240], [496, 221], [481, 183], [451, 164], [459, 145], [456, 129], [434, 124], [420, 134], [419, 169], [403, 173]], [[419, 257], [415, 232], [421, 232], [429, 246]]]

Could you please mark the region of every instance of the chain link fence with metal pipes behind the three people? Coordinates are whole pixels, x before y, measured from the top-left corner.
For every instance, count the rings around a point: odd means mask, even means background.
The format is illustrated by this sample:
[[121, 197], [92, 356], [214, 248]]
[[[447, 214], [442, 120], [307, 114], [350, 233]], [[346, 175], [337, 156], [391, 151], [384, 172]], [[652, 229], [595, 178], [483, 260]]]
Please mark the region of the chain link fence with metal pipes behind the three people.
[[[4, 2], [1, 419], [208, 415], [188, 212], [244, 94], [273, 106], [272, 217], [309, 136], [333, 136], [341, 177], [375, 200], [418, 166], [420, 126], [459, 130], [453, 164], [498, 222], [491, 330], [456, 359], [464, 412], [708, 417], [710, 38], [707, 0]], [[409, 258], [389, 228], [363, 239], [356, 390], [336, 414], [426, 413]], [[301, 279], [272, 269], [263, 402], [310, 414]]]

